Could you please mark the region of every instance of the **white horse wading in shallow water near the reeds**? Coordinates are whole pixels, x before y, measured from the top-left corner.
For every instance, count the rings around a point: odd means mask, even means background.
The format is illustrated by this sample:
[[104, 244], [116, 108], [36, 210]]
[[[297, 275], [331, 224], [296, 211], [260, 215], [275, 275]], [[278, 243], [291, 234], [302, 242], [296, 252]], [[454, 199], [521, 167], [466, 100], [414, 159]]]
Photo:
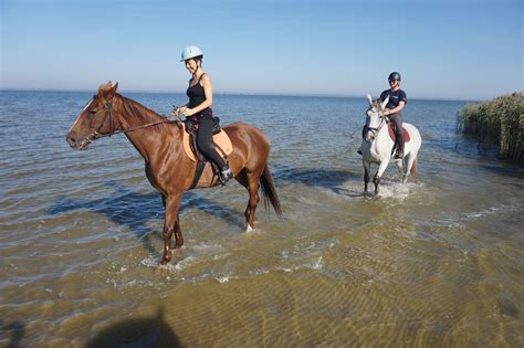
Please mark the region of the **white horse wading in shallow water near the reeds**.
[[411, 124], [404, 124], [404, 128], [409, 134], [410, 140], [406, 141], [404, 147], [406, 171], [404, 170], [404, 160], [394, 159], [394, 146], [395, 141], [389, 137], [388, 124], [389, 119], [384, 115], [384, 108], [388, 104], [389, 96], [380, 103], [379, 99], [373, 101], [368, 94], [369, 109], [367, 110], [366, 126], [367, 130], [363, 137], [360, 150], [363, 155], [364, 165], [364, 194], [368, 194], [367, 184], [369, 182], [369, 172], [371, 162], [378, 164], [378, 170], [373, 179], [375, 183], [375, 196], [378, 196], [380, 178], [388, 168], [389, 161], [392, 159], [397, 165], [398, 171], [402, 177], [402, 183], [406, 183], [409, 178], [409, 173], [417, 178], [418, 175], [418, 160], [417, 155], [422, 144], [419, 130]]

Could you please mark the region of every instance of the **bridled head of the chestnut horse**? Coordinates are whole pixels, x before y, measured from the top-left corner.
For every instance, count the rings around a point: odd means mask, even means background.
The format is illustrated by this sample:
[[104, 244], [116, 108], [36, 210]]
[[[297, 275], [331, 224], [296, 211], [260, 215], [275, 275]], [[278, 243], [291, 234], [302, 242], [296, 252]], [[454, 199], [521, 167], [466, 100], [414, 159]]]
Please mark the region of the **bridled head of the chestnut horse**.
[[111, 81], [98, 87], [98, 93], [84, 106], [66, 135], [67, 144], [75, 150], [86, 150], [90, 144], [103, 136], [111, 136], [115, 130], [113, 99], [115, 85]]

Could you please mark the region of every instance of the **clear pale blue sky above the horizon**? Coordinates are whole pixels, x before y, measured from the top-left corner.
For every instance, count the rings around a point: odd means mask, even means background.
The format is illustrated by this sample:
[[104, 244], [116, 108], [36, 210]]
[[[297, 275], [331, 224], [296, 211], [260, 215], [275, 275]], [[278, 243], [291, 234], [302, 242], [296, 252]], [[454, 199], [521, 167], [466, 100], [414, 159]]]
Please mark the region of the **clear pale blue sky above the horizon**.
[[0, 0], [2, 89], [184, 93], [203, 51], [214, 93], [408, 98], [524, 91], [523, 0]]

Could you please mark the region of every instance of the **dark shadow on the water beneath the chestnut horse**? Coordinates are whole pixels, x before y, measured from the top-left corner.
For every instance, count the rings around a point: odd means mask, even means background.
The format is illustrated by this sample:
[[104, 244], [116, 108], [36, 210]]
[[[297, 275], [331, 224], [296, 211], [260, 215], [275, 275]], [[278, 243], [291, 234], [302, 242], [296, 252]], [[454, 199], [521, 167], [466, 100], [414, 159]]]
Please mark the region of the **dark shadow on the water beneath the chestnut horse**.
[[[107, 181], [106, 186], [114, 189], [111, 197], [98, 199], [65, 198], [55, 201], [48, 209], [52, 215], [61, 215], [70, 211], [90, 211], [107, 217], [117, 225], [126, 225], [129, 231], [142, 241], [144, 247], [150, 253], [158, 253], [151, 239], [164, 241], [161, 226], [151, 229], [150, 221], [163, 221], [164, 205], [161, 196], [157, 191], [150, 193], [138, 193], [127, 189], [115, 181]], [[220, 218], [230, 224], [244, 225], [243, 212], [229, 209], [224, 204], [209, 200], [200, 194], [188, 191], [184, 194], [180, 213], [188, 208], [197, 208], [216, 218]], [[184, 228], [184, 218], [180, 219]], [[154, 232], [154, 233], [151, 233]]]

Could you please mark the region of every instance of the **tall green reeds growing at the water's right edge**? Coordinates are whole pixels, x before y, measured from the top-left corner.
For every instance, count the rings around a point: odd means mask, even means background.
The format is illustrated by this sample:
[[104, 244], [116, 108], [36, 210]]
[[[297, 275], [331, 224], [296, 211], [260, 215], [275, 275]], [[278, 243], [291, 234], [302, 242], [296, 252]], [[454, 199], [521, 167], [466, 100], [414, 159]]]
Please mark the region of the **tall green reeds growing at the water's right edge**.
[[501, 159], [524, 162], [524, 92], [468, 104], [458, 114], [458, 128], [480, 141], [499, 144]]

